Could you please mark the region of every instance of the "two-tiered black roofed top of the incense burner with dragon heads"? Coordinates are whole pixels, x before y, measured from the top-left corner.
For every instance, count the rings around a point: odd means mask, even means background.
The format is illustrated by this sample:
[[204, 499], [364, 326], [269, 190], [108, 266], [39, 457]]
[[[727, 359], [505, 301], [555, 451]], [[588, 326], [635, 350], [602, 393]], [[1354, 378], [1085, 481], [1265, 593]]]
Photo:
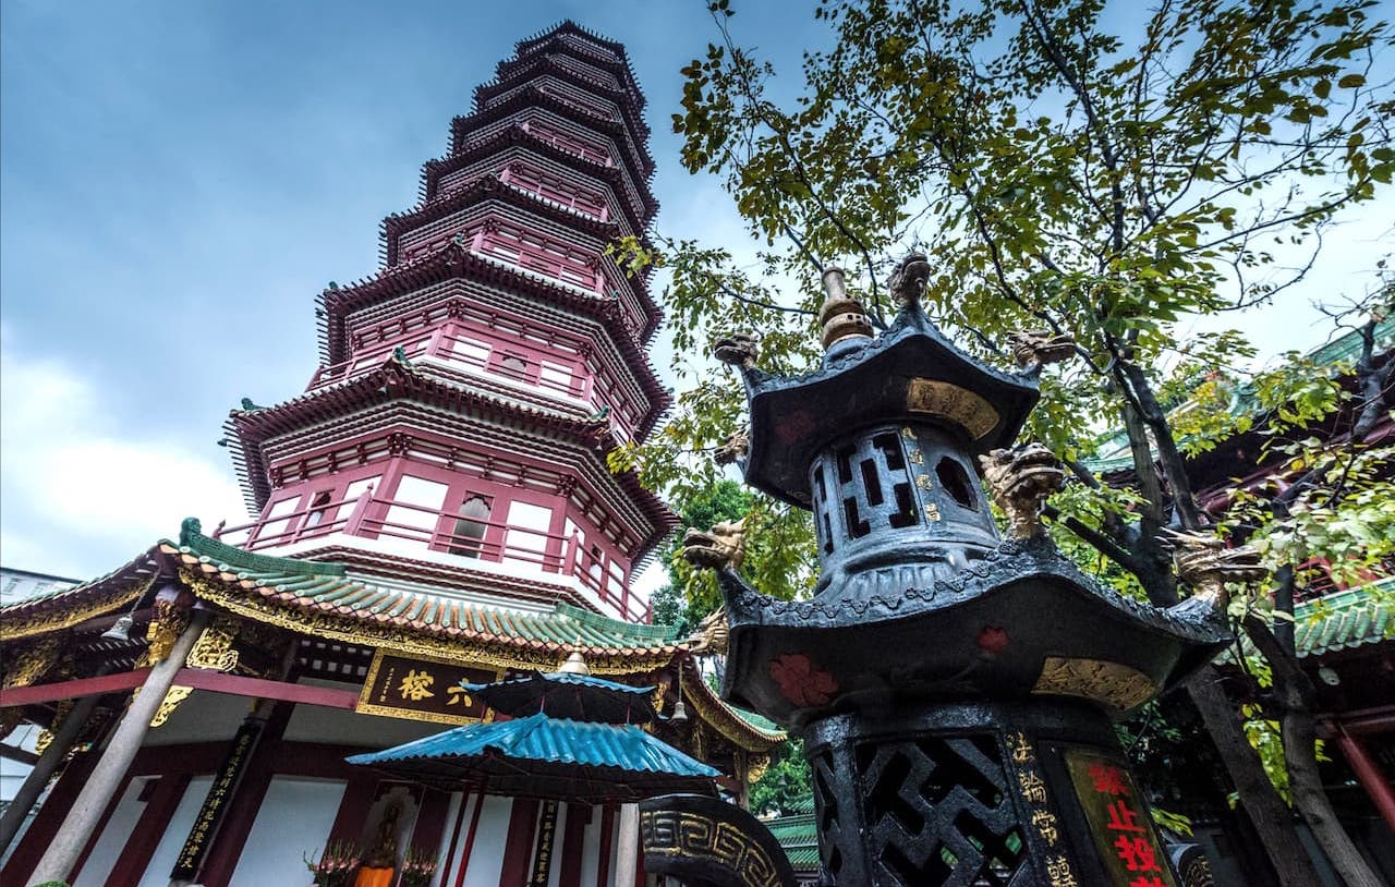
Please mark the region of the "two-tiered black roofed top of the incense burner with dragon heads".
[[1028, 368], [988, 367], [921, 310], [926, 275], [925, 257], [903, 262], [900, 314], [873, 336], [829, 272], [826, 358], [810, 374], [760, 371], [746, 336], [717, 344], [749, 397], [746, 483], [809, 509], [819, 545], [813, 596], [780, 601], [738, 573], [744, 523], [685, 536], [684, 555], [717, 570], [725, 600], [723, 696], [791, 727], [850, 707], [1038, 695], [1129, 711], [1215, 654], [1219, 608], [1126, 598], [1057, 551], [1039, 517], [1064, 471], [1046, 448], [1013, 442], [1041, 364], [1074, 346], [1016, 336]]

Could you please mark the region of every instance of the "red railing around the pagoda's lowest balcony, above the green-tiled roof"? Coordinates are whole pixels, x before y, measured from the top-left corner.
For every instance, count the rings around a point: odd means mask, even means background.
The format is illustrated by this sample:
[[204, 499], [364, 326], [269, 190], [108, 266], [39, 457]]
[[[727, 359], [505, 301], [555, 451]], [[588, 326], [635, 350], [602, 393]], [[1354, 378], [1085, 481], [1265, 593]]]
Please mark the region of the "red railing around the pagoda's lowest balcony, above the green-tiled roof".
[[[480, 536], [456, 533], [459, 523], [474, 524], [483, 531]], [[396, 540], [407, 547], [460, 558], [462, 565], [469, 561], [518, 563], [541, 573], [571, 576], [626, 619], [649, 622], [653, 618], [649, 602], [631, 596], [626, 583], [610, 576], [604, 561], [587, 551], [578, 534], [568, 537], [498, 520], [453, 515], [379, 498], [371, 491], [353, 499], [331, 501], [226, 527], [218, 538], [246, 551], [262, 551], [335, 534]]]

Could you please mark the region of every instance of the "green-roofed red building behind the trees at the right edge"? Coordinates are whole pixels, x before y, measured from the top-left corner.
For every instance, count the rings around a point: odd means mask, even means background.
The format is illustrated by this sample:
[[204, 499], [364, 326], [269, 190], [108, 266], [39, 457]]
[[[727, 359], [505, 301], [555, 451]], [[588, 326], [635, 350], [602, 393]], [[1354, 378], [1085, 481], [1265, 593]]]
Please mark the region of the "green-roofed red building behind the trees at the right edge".
[[[1368, 360], [1374, 367], [1395, 361], [1395, 318], [1375, 318], [1370, 326]], [[1289, 431], [1296, 437], [1342, 446], [1355, 423], [1353, 404], [1360, 403], [1355, 364], [1363, 356], [1363, 336], [1348, 331], [1311, 349], [1303, 358], [1352, 395], [1339, 409], [1318, 423]], [[1272, 495], [1302, 476], [1282, 449], [1271, 448], [1269, 417], [1258, 409], [1253, 392], [1239, 379], [1215, 379], [1229, 392], [1228, 409], [1251, 423], [1214, 449], [1187, 455], [1197, 501], [1215, 520], [1225, 516], [1236, 487], [1257, 495]], [[1194, 400], [1172, 407], [1177, 414], [1201, 409]], [[1389, 413], [1366, 437], [1367, 446], [1395, 439], [1395, 417]], [[1095, 474], [1117, 487], [1134, 484], [1133, 457], [1122, 431], [1105, 439], [1095, 457], [1087, 460]], [[1388, 476], [1389, 466], [1384, 469]], [[1300, 565], [1295, 590], [1295, 653], [1315, 696], [1313, 714], [1318, 738], [1322, 784], [1348, 835], [1367, 862], [1395, 880], [1395, 561], [1375, 565], [1359, 582], [1343, 584], [1332, 577], [1321, 559]], [[1254, 649], [1246, 639], [1247, 655]], [[1226, 676], [1226, 690], [1236, 704], [1256, 702], [1254, 679], [1244, 675], [1233, 654], [1218, 660]], [[1198, 745], [1197, 749], [1201, 746]], [[1189, 766], [1175, 768], [1175, 796], [1159, 803], [1187, 814], [1193, 840], [1211, 861], [1218, 884], [1268, 887], [1278, 877], [1261, 849], [1243, 806], [1226, 796], [1228, 777], [1214, 756], [1190, 755]], [[1300, 840], [1310, 852], [1317, 845], [1307, 826], [1297, 823]], [[1318, 858], [1324, 887], [1341, 883]]]

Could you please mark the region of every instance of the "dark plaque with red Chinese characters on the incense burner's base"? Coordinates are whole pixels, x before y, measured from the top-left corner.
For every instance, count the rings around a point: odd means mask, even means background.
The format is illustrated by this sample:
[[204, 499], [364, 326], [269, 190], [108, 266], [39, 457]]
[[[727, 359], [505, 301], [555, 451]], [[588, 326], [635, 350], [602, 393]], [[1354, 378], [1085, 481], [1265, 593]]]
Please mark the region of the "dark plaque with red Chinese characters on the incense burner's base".
[[1110, 886], [1177, 887], [1129, 770], [1101, 755], [1078, 750], [1066, 752], [1066, 766]]

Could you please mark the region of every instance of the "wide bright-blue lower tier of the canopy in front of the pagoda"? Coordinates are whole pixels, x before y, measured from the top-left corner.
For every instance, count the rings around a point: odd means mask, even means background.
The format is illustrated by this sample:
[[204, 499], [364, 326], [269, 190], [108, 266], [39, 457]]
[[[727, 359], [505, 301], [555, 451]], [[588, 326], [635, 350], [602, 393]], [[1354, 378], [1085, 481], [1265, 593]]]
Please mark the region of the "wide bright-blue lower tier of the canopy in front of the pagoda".
[[628, 803], [668, 792], [713, 795], [720, 775], [639, 727], [541, 713], [469, 724], [347, 760], [438, 788], [477, 787], [585, 803]]

